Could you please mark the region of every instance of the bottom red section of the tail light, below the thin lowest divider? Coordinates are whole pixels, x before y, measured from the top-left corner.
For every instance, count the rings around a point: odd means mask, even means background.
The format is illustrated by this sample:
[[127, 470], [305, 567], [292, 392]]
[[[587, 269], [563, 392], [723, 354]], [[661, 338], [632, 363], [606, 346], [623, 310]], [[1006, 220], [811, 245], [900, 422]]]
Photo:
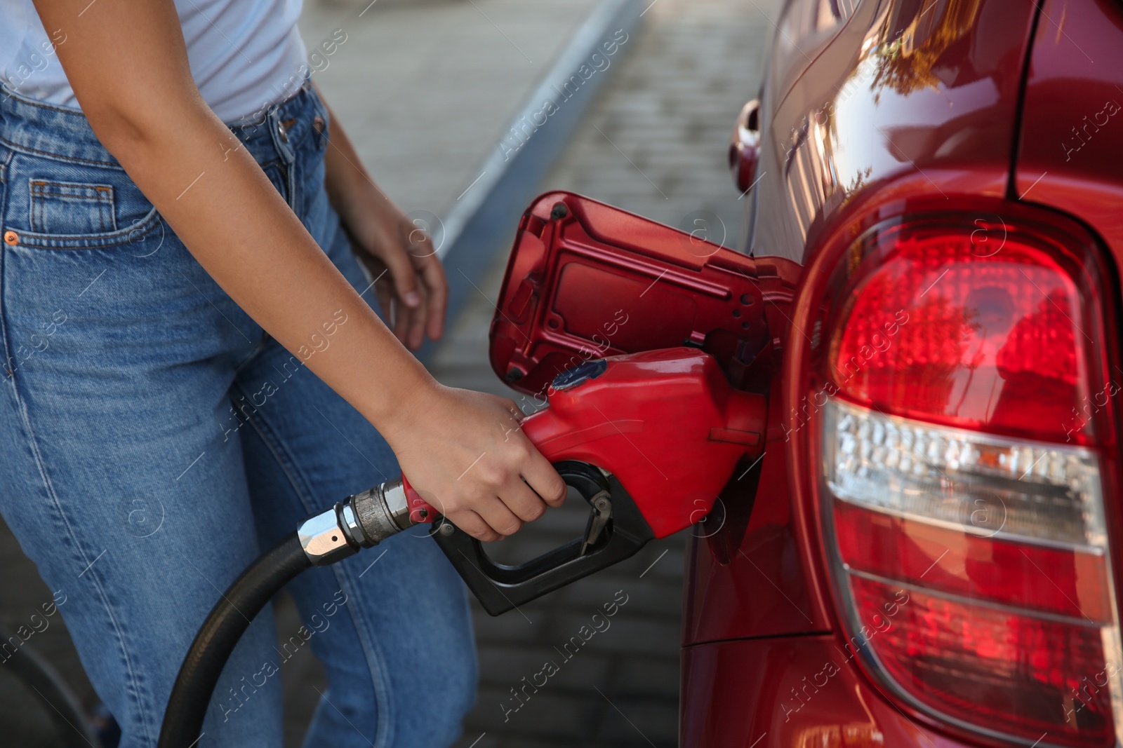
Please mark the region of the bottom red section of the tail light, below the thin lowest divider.
[[889, 600], [900, 608], [894, 619], [880, 616], [892, 625], [874, 634], [870, 646], [889, 677], [917, 701], [1007, 735], [1049, 740], [1039, 745], [1115, 745], [1108, 690], [1081, 692], [1086, 673], [1106, 684], [1098, 627], [912, 588], [902, 598], [900, 587], [857, 575], [850, 585], [859, 616], [878, 617]]

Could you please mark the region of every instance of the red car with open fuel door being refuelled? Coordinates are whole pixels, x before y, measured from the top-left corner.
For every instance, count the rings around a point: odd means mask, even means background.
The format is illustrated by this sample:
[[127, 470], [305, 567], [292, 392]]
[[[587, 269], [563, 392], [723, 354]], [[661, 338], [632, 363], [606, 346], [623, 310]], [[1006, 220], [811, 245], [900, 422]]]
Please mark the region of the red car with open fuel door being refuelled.
[[767, 403], [694, 516], [684, 748], [1123, 742], [1121, 103], [1120, 0], [789, 0], [743, 252], [523, 216], [508, 381], [686, 345]]

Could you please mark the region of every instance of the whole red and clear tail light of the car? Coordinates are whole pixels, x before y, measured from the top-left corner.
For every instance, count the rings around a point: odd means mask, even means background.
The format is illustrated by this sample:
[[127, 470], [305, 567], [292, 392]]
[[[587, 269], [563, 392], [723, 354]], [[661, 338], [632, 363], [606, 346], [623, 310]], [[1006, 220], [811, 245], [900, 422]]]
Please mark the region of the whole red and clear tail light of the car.
[[1114, 746], [1095, 257], [1051, 223], [979, 228], [876, 227], [829, 283], [809, 399], [843, 654], [950, 727]]

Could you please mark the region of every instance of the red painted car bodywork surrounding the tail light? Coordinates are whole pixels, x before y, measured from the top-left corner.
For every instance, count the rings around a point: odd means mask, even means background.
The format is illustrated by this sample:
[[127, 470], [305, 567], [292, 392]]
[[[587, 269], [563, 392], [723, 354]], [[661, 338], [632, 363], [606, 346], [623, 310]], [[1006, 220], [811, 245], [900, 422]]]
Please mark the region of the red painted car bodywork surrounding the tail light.
[[[794, 0], [784, 12], [815, 4]], [[1002, 224], [1031, 202], [1098, 232], [1117, 266], [1123, 149], [1110, 128], [1123, 127], [1114, 121], [1123, 87], [1111, 80], [1123, 70], [1123, 3], [1049, 0], [1035, 11], [1015, 0], [868, 0], [825, 41], [809, 37], [814, 49], [802, 61], [791, 54], [801, 40], [782, 41], [792, 25], [780, 22], [745, 251], [797, 261], [813, 281], [829, 270], [819, 260], [887, 216], [947, 207]], [[1116, 297], [1107, 280], [1104, 293]], [[802, 308], [815, 285], [801, 284], [779, 310], [785, 366], [758, 482], [740, 489], [741, 542], [736, 523], [723, 542], [704, 526], [690, 541], [681, 745], [1008, 745], [886, 698], [840, 649], [812, 486], [798, 472], [813, 451], [795, 433], [814, 421], [797, 405], [806, 390], [792, 353], [818, 334]], [[721, 519], [736, 517], [725, 507]], [[807, 680], [828, 663], [837, 674], [810, 686], [809, 700]]]

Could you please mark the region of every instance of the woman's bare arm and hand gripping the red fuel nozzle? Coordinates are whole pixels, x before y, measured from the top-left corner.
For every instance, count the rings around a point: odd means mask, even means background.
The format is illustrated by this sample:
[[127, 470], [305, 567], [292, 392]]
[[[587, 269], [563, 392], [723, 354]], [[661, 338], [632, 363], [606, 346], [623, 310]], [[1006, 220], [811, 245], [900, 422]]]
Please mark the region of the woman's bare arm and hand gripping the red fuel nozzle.
[[382, 432], [422, 496], [484, 539], [538, 517], [539, 496], [564, 500], [557, 472], [511, 431], [514, 404], [438, 385], [237, 148], [195, 87], [171, 0], [35, 4], [67, 36], [58, 58], [102, 145], [246, 313], [290, 351], [347, 314], [308, 366]]

